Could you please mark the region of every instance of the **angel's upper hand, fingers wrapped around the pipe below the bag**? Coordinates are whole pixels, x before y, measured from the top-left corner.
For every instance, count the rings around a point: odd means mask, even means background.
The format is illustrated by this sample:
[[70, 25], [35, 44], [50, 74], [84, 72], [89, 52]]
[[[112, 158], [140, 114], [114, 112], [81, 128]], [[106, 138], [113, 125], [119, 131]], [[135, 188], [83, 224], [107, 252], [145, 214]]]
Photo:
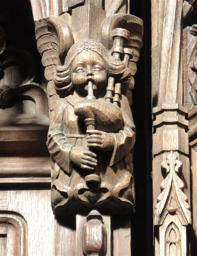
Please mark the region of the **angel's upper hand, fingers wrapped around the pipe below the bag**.
[[103, 151], [113, 150], [115, 139], [112, 134], [101, 132], [98, 130], [87, 131], [87, 146], [90, 148], [98, 148]]

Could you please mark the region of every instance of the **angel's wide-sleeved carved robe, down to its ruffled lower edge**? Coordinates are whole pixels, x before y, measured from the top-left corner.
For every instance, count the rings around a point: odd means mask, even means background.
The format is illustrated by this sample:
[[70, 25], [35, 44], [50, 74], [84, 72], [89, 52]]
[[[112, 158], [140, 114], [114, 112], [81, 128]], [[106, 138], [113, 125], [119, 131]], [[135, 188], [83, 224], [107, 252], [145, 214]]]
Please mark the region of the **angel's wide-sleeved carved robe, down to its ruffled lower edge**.
[[[112, 210], [114, 213], [117, 210], [118, 213], [133, 213], [135, 192], [132, 150], [135, 126], [128, 100], [122, 96], [120, 101], [123, 129], [116, 133], [110, 132], [115, 139], [113, 150], [95, 151], [95, 172], [101, 178], [98, 189], [86, 186], [84, 177], [91, 171], [74, 165], [70, 159], [72, 147], [86, 147], [87, 143], [84, 121], [74, 114], [74, 104], [78, 100], [81, 99], [73, 95], [59, 98], [50, 116], [47, 147], [52, 156], [51, 197], [54, 211], [69, 214], [102, 206], [107, 212]], [[104, 101], [103, 98], [98, 100]]]

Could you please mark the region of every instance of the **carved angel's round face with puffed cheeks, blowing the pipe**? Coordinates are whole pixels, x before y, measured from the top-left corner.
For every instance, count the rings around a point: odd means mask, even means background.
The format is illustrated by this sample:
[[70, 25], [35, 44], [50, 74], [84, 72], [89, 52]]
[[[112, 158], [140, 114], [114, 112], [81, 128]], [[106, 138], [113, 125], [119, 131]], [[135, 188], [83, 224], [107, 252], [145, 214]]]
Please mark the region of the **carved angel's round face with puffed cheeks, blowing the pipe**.
[[87, 95], [88, 82], [92, 81], [94, 95], [98, 96], [106, 88], [107, 74], [105, 61], [94, 51], [82, 51], [72, 62], [71, 81], [75, 91], [81, 96]]

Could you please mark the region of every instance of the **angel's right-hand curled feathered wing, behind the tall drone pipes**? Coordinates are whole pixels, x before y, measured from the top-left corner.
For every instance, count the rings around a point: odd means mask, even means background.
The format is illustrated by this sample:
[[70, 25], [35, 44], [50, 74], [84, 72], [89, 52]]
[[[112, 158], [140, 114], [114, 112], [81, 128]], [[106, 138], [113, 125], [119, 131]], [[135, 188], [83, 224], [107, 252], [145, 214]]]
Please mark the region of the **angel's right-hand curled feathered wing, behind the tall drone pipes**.
[[[122, 94], [128, 98], [128, 102], [131, 105], [131, 90], [134, 86], [133, 76], [137, 71], [136, 62], [138, 62], [140, 58], [140, 49], [143, 45], [143, 21], [138, 17], [126, 13], [113, 14], [103, 20], [103, 23], [101, 23], [98, 40], [103, 44], [103, 46], [105, 46], [110, 54], [113, 47], [112, 32], [115, 28], [124, 28], [130, 33], [129, 39], [125, 41], [123, 47], [125, 53], [130, 53], [132, 55], [128, 63], [128, 68], [131, 72], [131, 81], [129, 84], [122, 85], [121, 91]], [[127, 74], [125, 74], [125, 76], [126, 75]]]

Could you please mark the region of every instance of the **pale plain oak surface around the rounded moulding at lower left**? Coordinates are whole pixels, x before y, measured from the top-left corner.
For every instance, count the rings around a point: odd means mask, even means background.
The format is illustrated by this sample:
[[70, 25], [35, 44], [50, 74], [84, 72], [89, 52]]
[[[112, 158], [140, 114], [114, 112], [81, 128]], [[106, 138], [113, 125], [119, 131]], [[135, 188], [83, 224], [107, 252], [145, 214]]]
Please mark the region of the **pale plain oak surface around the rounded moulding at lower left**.
[[10, 190], [8, 210], [22, 215], [28, 226], [28, 256], [54, 255], [54, 215], [50, 190]]

